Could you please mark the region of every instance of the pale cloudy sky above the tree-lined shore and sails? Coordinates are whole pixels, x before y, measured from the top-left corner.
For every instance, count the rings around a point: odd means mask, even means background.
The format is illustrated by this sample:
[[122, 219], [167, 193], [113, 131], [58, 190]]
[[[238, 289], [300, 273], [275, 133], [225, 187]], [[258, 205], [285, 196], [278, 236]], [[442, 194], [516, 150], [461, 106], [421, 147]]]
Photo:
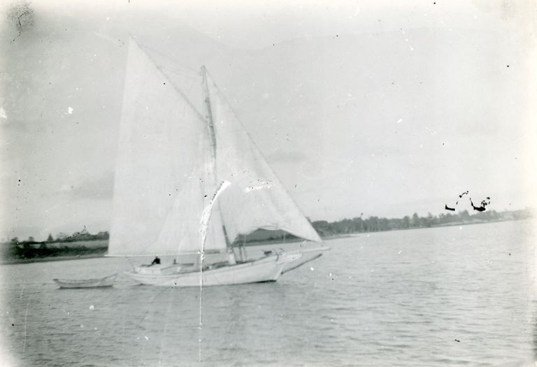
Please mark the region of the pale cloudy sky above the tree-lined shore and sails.
[[129, 34], [178, 80], [207, 66], [312, 220], [535, 202], [530, 1], [34, 0], [20, 32], [15, 4], [2, 238], [110, 228]]

